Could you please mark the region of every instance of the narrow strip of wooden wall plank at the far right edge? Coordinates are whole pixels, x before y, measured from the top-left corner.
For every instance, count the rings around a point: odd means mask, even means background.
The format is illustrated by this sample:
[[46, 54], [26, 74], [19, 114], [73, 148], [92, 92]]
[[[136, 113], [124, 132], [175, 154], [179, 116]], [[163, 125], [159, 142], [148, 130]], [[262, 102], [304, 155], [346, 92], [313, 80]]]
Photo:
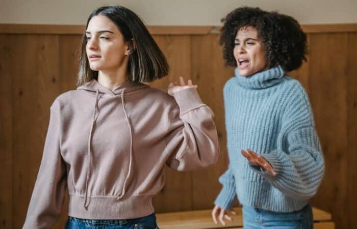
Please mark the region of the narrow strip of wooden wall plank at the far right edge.
[[348, 222], [349, 228], [357, 227], [357, 217], [355, 213], [357, 212], [357, 150], [356, 150], [356, 139], [357, 139], [357, 33], [348, 34], [348, 67], [346, 71], [347, 77], [347, 135], [348, 135], [348, 150], [345, 152], [347, 154], [348, 161], [348, 176], [345, 178], [348, 181]]

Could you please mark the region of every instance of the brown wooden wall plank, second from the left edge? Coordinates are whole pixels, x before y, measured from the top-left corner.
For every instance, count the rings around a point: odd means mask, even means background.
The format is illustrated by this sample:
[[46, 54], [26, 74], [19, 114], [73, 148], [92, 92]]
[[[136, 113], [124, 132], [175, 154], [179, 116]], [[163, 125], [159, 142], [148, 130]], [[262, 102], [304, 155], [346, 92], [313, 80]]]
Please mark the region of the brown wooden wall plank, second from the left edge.
[[[29, 206], [31, 193], [40, 162], [33, 164], [31, 157], [38, 157], [34, 137], [39, 134], [37, 111], [37, 52], [39, 35], [23, 35], [13, 38], [16, 56], [13, 68], [13, 228], [21, 228]], [[15, 67], [16, 66], [16, 67]], [[45, 124], [45, 121], [43, 122]], [[35, 140], [40, 139], [40, 136]]]

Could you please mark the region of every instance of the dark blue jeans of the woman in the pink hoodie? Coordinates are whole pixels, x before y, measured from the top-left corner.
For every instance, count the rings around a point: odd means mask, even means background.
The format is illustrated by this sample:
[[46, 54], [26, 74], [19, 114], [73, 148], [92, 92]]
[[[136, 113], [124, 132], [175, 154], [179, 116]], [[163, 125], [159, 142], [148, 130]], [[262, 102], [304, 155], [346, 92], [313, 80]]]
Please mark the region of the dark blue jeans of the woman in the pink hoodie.
[[79, 219], [68, 217], [65, 229], [159, 229], [155, 213], [137, 219]]

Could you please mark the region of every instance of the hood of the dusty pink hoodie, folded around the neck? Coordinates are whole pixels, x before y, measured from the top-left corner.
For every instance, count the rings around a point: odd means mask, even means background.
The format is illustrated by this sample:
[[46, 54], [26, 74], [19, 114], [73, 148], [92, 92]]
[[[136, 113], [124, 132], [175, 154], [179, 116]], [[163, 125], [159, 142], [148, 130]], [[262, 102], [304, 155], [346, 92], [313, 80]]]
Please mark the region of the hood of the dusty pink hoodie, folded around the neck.
[[147, 87], [148, 85], [146, 84], [136, 83], [128, 79], [124, 81], [119, 87], [116, 87], [115, 89], [113, 89], [113, 91], [111, 91], [110, 89], [98, 83], [96, 79], [92, 79], [89, 82], [86, 82], [85, 84], [78, 87], [77, 90], [85, 90], [87, 92], [93, 93], [96, 93], [98, 91], [98, 93], [101, 94], [101, 97], [111, 97], [121, 95], [122, 92], [130, 93]]

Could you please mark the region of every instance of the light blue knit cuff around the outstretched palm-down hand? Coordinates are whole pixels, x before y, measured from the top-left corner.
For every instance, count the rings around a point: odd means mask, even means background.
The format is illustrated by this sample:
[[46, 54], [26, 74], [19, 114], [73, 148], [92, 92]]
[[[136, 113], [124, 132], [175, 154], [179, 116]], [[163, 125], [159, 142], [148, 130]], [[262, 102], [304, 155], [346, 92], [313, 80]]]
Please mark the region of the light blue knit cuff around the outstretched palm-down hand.
[[273, 154], [262, 154], [262, 157], [264, 157], [273, 167], [276, 175], [272, 175], [269, 171], [265, 170], [264, 168], [260, 167], [260, 166], [255, 166], [250, 164], [250, 167], [256, 171], [257, 173], [261, 174], [264, 178], [274, 181], [277, 176], [281, 175], [283, 173], [283, 164], [281, 163], [281, 160], [279, 160], [279, 158]]

